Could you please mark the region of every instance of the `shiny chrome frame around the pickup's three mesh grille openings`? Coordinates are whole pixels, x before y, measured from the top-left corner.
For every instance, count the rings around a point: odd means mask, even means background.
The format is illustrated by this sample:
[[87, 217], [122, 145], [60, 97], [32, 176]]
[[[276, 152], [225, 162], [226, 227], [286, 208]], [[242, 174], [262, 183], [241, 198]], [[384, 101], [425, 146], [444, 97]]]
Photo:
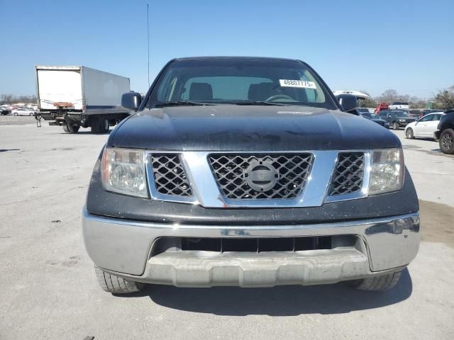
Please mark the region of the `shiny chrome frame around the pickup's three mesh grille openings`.
[[[364, 176], [360, 191], [343, 193], [330, 196], [331, 181], [333, 179], [335, 165], [338, 157], [344, 152], [361, 152], [364, 154]], [[172, 196], [157, 191], [151, 154], [175, 154], [179, 157], [182, 169], [186, 174], [187, 183], [191, 188], [192, 196]], [[209, 162], [209, 156], [213, 154], [311, 154], [311, 168], [306, 176], [304, 186], [294, 198], [256, 198], [235, 199], [228, 198], [214, 175]], [[303, 208], [317, 207], [323, 203], [341, 200], [352, 200], [368, 196], [370, 150], [314, 150], [314, 151], [285, 151], [285, 152], [206, 152], [206, 151], [145, 151], [145, 163], [147, 169], [150, 198], [167, 202], [189, 203], [201, 205], [204, 208]]]

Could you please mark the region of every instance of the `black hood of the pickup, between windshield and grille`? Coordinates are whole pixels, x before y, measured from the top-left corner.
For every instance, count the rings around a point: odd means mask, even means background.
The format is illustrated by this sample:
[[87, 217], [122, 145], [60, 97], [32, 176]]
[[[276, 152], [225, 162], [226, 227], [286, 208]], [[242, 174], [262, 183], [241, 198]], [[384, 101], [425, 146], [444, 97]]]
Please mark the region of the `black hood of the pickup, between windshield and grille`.
[[305, 106], [178, 106], [135, 113], [109, 147], [186, 151], [297, 151], [400, 147], [377, 123]]

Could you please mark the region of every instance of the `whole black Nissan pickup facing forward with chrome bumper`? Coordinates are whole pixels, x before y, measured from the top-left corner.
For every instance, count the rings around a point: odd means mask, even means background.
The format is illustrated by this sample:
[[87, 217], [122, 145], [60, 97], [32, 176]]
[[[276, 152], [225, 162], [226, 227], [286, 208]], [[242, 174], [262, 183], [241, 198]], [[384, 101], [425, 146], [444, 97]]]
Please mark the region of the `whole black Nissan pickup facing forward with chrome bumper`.
[[109, 135], [82, 225], [101, 287], [391, 288], [419, 248], [399, 138], [308, 64], [172, 60]]

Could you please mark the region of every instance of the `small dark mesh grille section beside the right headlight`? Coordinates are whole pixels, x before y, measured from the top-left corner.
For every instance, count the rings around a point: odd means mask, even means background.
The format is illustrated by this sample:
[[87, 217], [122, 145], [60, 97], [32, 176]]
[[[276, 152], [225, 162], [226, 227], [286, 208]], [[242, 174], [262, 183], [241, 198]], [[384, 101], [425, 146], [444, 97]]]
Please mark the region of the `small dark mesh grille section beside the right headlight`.
[[329, 195], [336, 196], [360, 191], [362, 188], [363, 176], [363, 152], [339, 153], [333, 179], [331, 180]]

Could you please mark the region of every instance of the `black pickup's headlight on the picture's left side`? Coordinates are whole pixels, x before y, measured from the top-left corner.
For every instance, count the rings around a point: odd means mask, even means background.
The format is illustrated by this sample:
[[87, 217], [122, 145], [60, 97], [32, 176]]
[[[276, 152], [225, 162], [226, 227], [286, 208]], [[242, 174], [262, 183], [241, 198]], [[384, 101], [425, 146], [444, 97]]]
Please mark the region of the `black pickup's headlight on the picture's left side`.
[[148, 198], [143, 151], [106, 147], [101, 159], [104, 188], [115, 193]]

